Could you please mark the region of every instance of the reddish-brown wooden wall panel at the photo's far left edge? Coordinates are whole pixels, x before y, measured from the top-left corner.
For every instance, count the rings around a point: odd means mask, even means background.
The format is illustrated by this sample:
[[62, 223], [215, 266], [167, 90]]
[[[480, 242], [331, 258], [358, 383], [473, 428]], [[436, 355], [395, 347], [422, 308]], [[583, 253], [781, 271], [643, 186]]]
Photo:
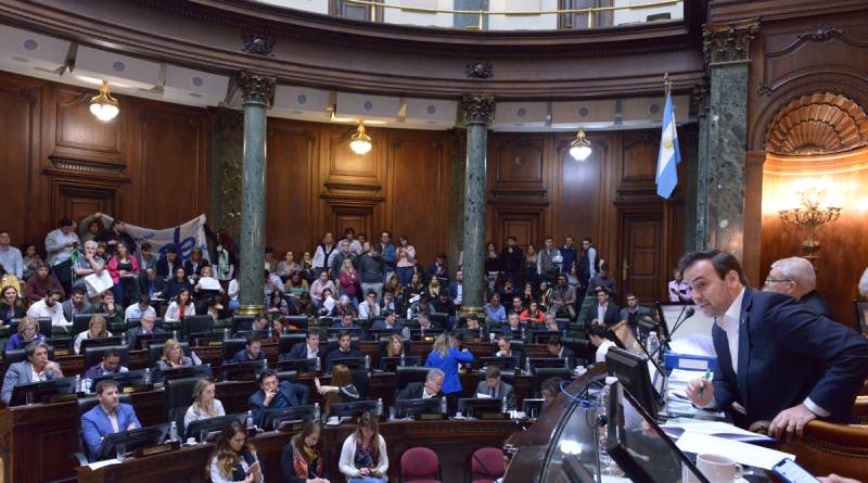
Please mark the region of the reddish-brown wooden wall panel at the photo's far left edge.
[[[38, 170], [36, 151], [40, 123], [40, 89], [34, 82], [0, 78], [0, 168], [3, 179], [3, 204], [0, 229], [9, 231], [12, 243], [37, 242], [34, 221], [44, 216], [34, 213], [31, 168]], [[38, 194], [38, 193], [36, 193]], [[23, 216], [30, 213], [30, 216]], [[34, 219], [35, 218], [35, 219]]]

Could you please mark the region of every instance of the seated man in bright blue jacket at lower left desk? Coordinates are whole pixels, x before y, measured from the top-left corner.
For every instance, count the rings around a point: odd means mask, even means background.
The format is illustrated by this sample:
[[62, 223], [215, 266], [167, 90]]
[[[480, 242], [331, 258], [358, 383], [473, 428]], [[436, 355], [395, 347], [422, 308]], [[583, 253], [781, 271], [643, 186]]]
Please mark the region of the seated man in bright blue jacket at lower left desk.
[[136, 430], [142, 427], [132, 405], [122, 403], [117, 382], [100, 381], [97, 384], [100, 404], [81, 415], [81, 437], [90, 452], [90, 459], [99, 457], [100, 444], [106, 434]]

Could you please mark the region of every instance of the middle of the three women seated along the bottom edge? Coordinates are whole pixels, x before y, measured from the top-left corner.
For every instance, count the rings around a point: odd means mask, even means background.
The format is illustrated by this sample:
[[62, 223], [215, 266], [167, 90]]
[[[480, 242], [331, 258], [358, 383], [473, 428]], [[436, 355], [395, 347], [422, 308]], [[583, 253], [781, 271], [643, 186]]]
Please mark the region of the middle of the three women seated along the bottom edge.
[[280, 455], [284, 483], [329, 483], [329, 471], [319, 437], [322, 427], [308, 421], [293, 436]]

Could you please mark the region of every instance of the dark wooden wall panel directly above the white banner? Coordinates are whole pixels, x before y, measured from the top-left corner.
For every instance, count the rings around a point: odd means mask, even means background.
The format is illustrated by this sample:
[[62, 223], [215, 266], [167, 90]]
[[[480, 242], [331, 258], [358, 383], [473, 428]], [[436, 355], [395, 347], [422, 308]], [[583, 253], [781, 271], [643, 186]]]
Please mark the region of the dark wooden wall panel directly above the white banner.
[[143, 208], [140, 217], [150, 227], [171, 227], [200, 214], [207, 215], [208, 134], [203, 110], [162, 103], [142, 105], [135, 130], [141, 183], [139, 206]]

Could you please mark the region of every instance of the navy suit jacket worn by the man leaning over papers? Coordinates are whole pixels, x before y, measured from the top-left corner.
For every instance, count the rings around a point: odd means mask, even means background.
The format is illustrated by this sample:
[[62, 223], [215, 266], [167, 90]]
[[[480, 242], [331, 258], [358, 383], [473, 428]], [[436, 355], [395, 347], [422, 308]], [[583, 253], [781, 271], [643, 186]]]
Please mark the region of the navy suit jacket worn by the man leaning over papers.
[[868, 373], [865, 338], [792, 297], [753, 289], [744, 291], [739, 327], [738, 376], [726, 332], [716, 323], [712, 328], [718, 408], [738, 402], [750, 424], [770, 421], [810, 397], [831, 412], [828, 420], [853, 420], [853, 402]]

